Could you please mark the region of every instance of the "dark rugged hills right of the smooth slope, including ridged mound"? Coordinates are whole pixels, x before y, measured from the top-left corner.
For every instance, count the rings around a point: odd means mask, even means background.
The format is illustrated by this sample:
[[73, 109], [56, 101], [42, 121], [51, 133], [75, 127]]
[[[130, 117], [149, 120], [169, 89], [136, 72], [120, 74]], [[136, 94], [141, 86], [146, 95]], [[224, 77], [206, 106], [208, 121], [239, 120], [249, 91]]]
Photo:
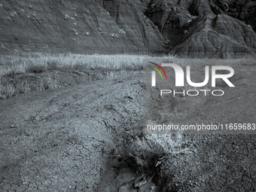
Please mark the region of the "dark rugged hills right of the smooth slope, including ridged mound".
[[251, 12], [254, 2], [240, 2], [240, 5], [232, 9], [233, 5], [225, 1], [155, 0], [145, 14], [169, 41], [166, 53], [199, 58], [255, 55], [255, 17], [252, 17], [254, 11]]

